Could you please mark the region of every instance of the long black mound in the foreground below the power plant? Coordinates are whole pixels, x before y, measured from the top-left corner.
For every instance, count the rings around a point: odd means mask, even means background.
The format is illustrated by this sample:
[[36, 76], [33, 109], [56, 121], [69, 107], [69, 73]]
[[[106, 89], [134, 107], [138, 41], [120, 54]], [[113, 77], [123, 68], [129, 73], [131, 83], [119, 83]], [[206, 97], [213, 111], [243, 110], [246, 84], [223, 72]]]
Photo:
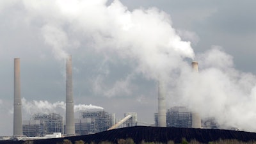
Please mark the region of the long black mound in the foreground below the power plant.
[[[229, 131], [220, 129], [191, 129], [191, 128], [175, 128], [175, 127], [125, 127], [121, 129], [113, 129], [111, 131], [99, 132], [96, 134], [84, 136], [71, 136], [65, 138], [54, 138], [47, 140], [34, 140], [34, 144], [57, 143], [64, 139], [72, 141], [83, 140], [85, 143], [100, 141], [110, 141], [117, 143], [118, 139], [132, 138], [135, 143], [145, 142], [161, 142], [167, 143], [172, 140], [175, 143], [181, 143], [182, 138], [187, 141], [196, 140], [201, 143], [217, 140], [250, 141], [256, 140], [256, 133], [243, 131]], [[23, 143], [24, 141], [0, 141], [0, 143]]]

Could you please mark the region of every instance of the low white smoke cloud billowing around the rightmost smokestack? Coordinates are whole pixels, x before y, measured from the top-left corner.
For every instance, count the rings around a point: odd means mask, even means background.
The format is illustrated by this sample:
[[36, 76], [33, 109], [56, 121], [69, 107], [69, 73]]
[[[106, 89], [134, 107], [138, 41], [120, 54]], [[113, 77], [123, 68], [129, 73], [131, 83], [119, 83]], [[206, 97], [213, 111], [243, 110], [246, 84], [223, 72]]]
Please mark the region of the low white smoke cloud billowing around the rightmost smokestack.
[[[256, 77], [234, 68], [220, 47], [198, 54], [199, 72], [182, 74], [175, 88], [177, 104], [215, 117], [222, 128], [255, 131]], [[171, 98], [172, 99], [172, 98]]]

